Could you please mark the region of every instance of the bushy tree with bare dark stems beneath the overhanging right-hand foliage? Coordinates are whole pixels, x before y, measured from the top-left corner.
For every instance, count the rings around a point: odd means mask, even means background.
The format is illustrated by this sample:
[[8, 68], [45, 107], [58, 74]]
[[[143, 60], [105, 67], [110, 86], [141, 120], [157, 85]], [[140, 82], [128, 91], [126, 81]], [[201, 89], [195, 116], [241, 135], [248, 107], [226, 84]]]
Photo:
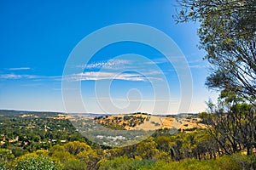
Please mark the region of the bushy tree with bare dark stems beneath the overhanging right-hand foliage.
[[201, 114], [209, 125], [209, 132], [218, 142], [221, 152], [233, 154], [256, 148], [255, 107], [238, 98], [234, 92], [222, 91], [218, 104], [211, 105], [212, 114]]

